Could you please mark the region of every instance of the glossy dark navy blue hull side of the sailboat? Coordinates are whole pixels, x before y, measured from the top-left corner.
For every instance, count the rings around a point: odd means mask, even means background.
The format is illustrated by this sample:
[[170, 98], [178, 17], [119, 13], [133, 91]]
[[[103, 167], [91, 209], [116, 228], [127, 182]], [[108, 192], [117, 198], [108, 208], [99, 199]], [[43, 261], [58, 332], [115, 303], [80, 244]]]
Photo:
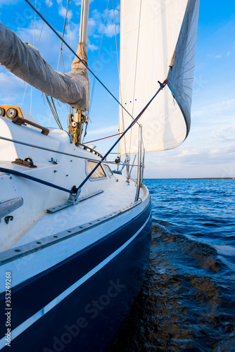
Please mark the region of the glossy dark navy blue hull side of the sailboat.
[[[22, 332], [11, 341], [11, 351], [107, 351], [139, 292], [150, 244], [151, 203], [124, 227], [13, 288], [11, 330], [21, 325]], [[117, 254], [84, 279], [112, 253]], [[44, 307], [60, 295], [61, 301], [45, 313]], [[1, 312], [5, 307], [1, 294]], [[30, 323], [39, 312], [42, 317]], [[5, 333], [2, 327], [1, 337]]]

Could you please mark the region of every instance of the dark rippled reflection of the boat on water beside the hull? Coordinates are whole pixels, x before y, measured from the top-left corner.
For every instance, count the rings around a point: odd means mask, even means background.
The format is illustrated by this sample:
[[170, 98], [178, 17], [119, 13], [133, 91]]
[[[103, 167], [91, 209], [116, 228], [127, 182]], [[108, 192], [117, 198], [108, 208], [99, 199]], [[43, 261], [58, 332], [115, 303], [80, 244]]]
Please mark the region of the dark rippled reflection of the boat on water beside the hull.
[[231, 270], [208, 244], [153, 222], [146, 278], [110, 352], [235, 351]]

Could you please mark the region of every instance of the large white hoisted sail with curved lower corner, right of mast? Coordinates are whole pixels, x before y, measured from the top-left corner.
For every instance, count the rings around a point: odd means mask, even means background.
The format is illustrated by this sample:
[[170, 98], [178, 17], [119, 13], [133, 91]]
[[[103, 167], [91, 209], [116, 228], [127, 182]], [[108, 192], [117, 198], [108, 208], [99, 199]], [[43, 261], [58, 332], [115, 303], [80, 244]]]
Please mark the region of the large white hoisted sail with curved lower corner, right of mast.
[[[196, 39], [198, 6], [199, 0], [121, 1], [120, 101], [134, 118], [157, 92], [158, 80], [163, 82], [167, 78], [174, 51], [174, 62], [177, 63], [177, 67], [181, 65], [183, 60], [177, 59], [177, 56], [181, 50], [187, 53], [187, 49], [177, 46], [181, 28], [181, 37], [184, 37], [183, 44], [189, 44], [189, 40], [185, 38], [189, 38], [191, 33], [194, 36], [193, 41]], [[193, 7], [193, 14], [187, 11], [189, 7]], [[194, 20], [189, 20], [189, 17]], [[192, 27], [188, 28], [186, 25], [183, 27], [183, 20], [184, 23], [189, 24], [190, 22]], [[194, 46], [192, 53], [195, 54]], [[186, 55], [184, 54], [184, 57]], [[194, 65], [194, 56], [191, 64]], [[177, 70], [183, 73], [184, 67], [177, 68]], [[170, 73], [170, 87], [173, 90], [176, 89], [172, 83], [172, 80], [176, 78], [175, 72], [173, 66], [172, 73]], [[182, 80], [184, 80], [183, 77]], [[192, 82], [191, 80], [190, 87]], [[179, 89], [184, 89], [184, 87], [177, 88]], [[184, 142], [189, 132], [190, 115], [187, 115], [187, 119], [184, 117], [182, 105], [179, 107], [175, 102], [175, 100], [178, 101], [179, 94], [174, 92], [174, 95], [175, 99], [169, 87], [165, 87], [139, 119], [139, 123], [143, 125], [146, 151], [172, 149]], [[184, 99], [184, 94], [182, 97]], [[189, 101], [191, 102], [191, 92], [189, 92], [187, 106], [190, 105]], [[132, 118], [120, 108], [120, 132], [124, 131], [131, 122]], [[121, 143], [121, 154], [136, 153], [138, 151], [138, 125], [135, 124], [126, 136]]]

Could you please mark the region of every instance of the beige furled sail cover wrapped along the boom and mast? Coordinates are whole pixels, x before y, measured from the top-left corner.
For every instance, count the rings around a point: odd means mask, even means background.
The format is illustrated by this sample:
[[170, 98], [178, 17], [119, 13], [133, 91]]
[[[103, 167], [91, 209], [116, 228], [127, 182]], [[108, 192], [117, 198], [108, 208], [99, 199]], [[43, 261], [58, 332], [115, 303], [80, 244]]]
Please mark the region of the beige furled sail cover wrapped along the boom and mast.
[[87, 44], [80, 43], [69, 73], [60, 73], [46, 63], [37, 49], [22, 42], [17, 35], [0, 23], [0, 63], [11, 73], [62, 103], [82, 111], [89, 109], [89, 78]]

